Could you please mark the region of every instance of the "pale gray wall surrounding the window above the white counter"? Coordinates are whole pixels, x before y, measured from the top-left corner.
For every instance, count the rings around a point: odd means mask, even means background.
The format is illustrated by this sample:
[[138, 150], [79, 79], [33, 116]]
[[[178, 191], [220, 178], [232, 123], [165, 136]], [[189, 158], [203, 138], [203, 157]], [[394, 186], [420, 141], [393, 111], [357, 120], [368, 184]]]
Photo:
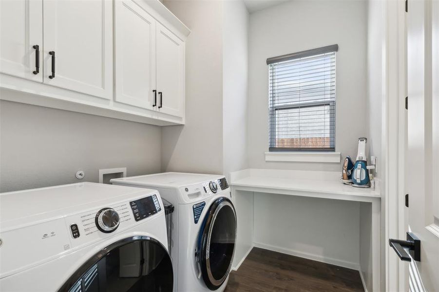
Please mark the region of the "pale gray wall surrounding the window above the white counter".
[[297, 0], [250, 14], [248, 153], [252, 168], [340, 171], [340, 164], [273, 163], [268, 151], [267, 57], [338, 44], [336, 151], [356, 157], [366, 135], [366, 1]]

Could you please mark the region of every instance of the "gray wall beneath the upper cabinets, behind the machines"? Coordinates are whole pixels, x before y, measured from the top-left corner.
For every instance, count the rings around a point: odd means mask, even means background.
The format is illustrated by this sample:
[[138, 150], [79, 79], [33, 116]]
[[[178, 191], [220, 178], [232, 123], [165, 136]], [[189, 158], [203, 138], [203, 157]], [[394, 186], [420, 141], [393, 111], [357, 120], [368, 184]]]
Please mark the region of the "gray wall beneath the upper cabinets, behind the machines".
[[98, 182], [101, 168], [159, 172], [160, 137], [157, 126], [1, 101], [0, 192]]

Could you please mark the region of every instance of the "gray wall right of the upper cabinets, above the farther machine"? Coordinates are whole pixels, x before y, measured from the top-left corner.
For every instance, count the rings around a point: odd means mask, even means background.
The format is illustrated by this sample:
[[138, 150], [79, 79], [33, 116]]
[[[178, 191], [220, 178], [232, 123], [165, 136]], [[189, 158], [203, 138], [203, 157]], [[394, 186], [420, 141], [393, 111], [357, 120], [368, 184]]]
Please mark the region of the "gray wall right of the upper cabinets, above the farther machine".
[[186, 42], [186, 125], [162, 129], [162, 170], [223, 172], [223, 2], [165, 0], [191, 29]]

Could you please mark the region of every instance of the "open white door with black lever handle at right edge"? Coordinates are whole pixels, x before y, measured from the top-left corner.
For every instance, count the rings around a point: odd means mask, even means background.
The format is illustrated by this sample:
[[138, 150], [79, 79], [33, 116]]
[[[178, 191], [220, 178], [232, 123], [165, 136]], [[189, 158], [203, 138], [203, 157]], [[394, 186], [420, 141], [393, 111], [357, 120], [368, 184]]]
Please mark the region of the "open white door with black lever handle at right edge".
[[409, 230], [420, 238], [410, 291], [439, 291], [439, 1], [409, 0], [407, 13]]

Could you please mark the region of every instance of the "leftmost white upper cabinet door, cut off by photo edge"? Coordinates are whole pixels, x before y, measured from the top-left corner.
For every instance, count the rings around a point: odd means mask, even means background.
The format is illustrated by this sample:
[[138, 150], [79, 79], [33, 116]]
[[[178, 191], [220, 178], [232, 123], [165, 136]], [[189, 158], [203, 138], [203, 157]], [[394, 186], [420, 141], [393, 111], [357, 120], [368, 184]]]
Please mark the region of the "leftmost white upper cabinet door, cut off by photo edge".
[[42, 49], [42, 0], [0, 0], [0, 72], [42, 82]]

